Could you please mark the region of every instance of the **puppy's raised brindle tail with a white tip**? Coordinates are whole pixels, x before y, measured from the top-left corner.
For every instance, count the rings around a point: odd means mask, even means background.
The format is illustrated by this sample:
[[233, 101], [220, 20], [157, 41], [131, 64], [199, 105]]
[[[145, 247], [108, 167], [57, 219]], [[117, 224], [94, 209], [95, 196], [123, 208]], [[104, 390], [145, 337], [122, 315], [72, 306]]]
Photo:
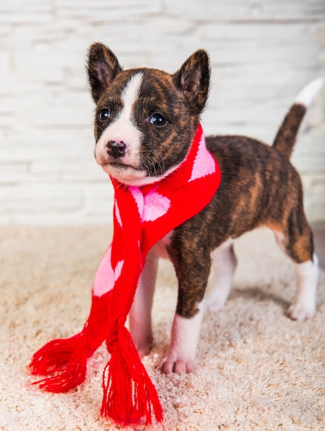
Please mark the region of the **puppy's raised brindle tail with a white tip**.
[[306, 85], [295, 98], [288, 114], [284, 117], [272, 146], [287, 158], [291, 156], [302, 118], [304, 118], [307, 108], [323, 84], [324, 78], [318, 78]]

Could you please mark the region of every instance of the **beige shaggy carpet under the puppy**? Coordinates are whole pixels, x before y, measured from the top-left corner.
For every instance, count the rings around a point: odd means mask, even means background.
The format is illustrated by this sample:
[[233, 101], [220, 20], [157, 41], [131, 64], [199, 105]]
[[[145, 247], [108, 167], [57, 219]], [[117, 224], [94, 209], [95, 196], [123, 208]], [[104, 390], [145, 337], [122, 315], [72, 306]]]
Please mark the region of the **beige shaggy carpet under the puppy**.
[[[89, 360], [85, 383], [66, 394], [32, 386], [27, 369], [46, 341], [82, 328], [110, 240], [107, 227], [0, 228], [1, 430], [118, 429], [100, 417], [104, 348]], [[284, 312], [293, 298], [293, 268], [273, 235], [244, 235], [236, 251], [234, 288], [220, 313], [205, 315], [192, 375], [156, 369], [168, 346], [177, 293], [172, 267], [161, 264], [155, 345], [144, 364], [159, 392], [165, 430], [325, 430], [324, 271], [317, 315], [291, 322]]]

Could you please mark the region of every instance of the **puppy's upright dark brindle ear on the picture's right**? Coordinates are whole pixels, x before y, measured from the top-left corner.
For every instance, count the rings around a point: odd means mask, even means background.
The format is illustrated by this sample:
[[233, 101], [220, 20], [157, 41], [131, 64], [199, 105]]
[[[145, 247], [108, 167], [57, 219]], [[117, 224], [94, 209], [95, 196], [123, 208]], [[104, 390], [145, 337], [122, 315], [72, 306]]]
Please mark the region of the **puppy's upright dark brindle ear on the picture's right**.
[[172, 80], [192, 105], [194, 114], [203, 111], [210, 85], [210, 60], [208, 52], [197, 50], [188, 57]]

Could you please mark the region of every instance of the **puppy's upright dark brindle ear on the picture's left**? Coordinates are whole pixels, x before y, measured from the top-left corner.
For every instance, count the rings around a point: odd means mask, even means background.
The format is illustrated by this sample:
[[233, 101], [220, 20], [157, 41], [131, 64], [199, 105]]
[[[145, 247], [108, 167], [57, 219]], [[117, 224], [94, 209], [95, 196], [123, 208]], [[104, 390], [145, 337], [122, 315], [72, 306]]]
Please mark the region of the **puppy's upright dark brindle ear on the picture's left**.
[[122, 67], [115, 54], [103, 43], [93, 43], [88, 51], [87, 72], [91, 95], [97, 103]]

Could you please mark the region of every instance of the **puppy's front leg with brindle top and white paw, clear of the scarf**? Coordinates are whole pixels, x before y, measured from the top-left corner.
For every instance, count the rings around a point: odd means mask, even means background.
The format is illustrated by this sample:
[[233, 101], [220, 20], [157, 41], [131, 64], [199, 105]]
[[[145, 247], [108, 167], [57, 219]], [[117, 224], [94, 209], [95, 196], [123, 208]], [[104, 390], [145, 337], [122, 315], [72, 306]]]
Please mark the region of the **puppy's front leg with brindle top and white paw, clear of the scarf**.
[[172, 323], [170, 347], [159, 368], [165, 373], [192, 372], [203, 317], [203, 297], [208, 284], [211, 259], [205, 244], [195, 249], [194, 241], [178, 244], [170, 254], [179, 281], [177, 310]]

